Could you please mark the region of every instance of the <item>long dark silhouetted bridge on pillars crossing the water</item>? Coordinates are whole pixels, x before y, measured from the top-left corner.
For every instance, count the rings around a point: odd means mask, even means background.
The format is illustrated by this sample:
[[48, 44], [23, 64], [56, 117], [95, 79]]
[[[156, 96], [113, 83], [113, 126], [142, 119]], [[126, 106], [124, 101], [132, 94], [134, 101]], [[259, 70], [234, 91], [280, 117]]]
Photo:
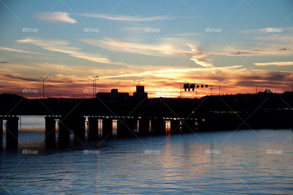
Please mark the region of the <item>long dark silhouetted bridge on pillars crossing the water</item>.
[[60, 140], [68, 140], [71, 132], [74, 137], [84, 140], [85, 122], [88, 124], [89, 139], [99, 136], [99, 127], [102, 127], [103, 137], [111, 137], [113, 121], [117, 121], [117, 136], [133, 136], [136, 134], [135, 129], [138, 129], [139, 135], [165, 133], [166, 122], [174, 133], [293, 127], [292, 109], [286, 101], [282, 105], [273, 104], [269, 99], [226, 103], [219, 97], [218, 102], [207, 102], [205, 99], [187, 98], [118, 102], [98, 98], [6, 99], [0, 104], [1, 142], [2, 124], [6, 121], [6, 145], [17, 145], [20, 115], [45, 115], [45, 137], [48, 140], [56, 137], [56, 122]]

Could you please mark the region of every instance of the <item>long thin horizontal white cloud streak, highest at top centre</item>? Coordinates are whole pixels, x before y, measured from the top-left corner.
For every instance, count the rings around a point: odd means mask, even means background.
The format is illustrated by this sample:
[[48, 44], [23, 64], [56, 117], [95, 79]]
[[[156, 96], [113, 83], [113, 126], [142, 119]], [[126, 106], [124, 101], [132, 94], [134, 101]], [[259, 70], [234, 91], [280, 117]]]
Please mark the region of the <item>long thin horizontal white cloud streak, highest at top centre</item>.
[[[140, 17], [140, 16], [119, 16], [119, 15], [105, 15], [105, 14], [94, 14], [94, 13], [80, 13], [79, 16], [85, 17], [94, 17], [108, 20], [117, 20], [117, 21], [130, 21], [130, 22], [141, 22], [141, 21], [154, 21], [154, 20], [163, 20], [163, 19], [177, 19], [176, 16], [152, 16], [152, 17]], [[186, 18], [186, 17], [180, 17]]]

